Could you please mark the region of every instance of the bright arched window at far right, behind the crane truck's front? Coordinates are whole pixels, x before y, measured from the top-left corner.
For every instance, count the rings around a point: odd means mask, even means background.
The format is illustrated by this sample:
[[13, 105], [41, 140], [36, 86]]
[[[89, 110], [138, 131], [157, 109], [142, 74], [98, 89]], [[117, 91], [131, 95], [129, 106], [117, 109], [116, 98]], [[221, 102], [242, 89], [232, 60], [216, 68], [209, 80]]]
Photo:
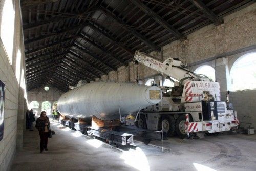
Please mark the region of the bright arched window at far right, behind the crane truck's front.
[[230, 70], [231, 90], [256, 88], [256, 53], [248, 53], [234, 62]]

